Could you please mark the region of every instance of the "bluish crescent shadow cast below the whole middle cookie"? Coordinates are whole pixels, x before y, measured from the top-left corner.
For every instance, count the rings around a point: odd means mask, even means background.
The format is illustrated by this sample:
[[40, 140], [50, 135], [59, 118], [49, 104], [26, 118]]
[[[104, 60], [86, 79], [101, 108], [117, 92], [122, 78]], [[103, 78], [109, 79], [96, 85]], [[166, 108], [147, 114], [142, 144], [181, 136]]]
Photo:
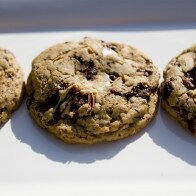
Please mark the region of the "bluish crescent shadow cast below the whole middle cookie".
[[[150, 126], [145, 129], [150, 129]], [[25, 103], [14, 113], [11, 119], [11, 128], [15, 137], [21, 143], [29, 145], [34, 152], [61, 163], [93, 163], [98, 160], [111, 159], [145, 133], [145, 130], [143, 130], [131, 138], [93, 146], [65, 144], [51, 133], [36, 126], [28, 115]]]

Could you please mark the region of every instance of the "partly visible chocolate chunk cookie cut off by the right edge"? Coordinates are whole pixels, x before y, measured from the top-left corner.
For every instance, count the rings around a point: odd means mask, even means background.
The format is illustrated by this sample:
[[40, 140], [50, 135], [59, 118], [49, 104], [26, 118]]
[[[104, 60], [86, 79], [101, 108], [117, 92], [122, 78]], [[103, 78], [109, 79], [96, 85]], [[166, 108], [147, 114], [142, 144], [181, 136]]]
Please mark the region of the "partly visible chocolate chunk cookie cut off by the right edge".
[[169, 62], [161, 86], [162, 106], [196, 135], [196, 45]]

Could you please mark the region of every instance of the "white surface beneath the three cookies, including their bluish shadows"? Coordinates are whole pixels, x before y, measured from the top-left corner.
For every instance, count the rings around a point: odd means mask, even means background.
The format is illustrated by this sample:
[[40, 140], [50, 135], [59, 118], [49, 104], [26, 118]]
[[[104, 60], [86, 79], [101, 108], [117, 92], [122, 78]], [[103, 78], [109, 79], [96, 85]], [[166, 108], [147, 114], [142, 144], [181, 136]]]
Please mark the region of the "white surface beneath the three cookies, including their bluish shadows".
[[[43, 49], [83, 36], [131, 44], [158, 65], [195, 42], [196, 29], [157, 32], [61, 32], [1, 34], [27, 78], [31, 61]], [[196, 139], [162, 109], [140, 134], [94, 146], [68, 145], [39, 129], [25, 103], [0, 129], [0, 192], [2, 195], [66, 193], [86, 195], [174, 193], [196, 194]], [[89, 192], [90, 190], [90, 192]], [[29, 192], [28, 192], [29, 194]]]

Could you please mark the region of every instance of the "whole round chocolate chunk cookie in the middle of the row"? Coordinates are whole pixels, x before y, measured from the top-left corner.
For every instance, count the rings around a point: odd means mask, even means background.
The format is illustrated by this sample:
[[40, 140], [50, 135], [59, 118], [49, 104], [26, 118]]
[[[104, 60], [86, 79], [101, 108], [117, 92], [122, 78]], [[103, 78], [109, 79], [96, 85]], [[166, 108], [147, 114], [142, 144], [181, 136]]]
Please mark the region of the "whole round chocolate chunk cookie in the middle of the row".
[[93, 144], [139, 132], [154, 117], [159, 72], [137, 49], [85, 37], [33, 60], [27, 107], [65, 142]]

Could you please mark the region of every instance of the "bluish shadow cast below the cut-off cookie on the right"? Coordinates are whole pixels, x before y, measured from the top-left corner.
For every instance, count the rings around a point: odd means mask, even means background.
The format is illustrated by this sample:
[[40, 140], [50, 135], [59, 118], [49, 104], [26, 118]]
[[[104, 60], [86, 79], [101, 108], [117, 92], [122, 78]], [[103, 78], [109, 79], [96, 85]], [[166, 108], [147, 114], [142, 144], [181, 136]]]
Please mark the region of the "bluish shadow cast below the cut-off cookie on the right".
[[156, 119], [154, 128], [148, 132], [153, 142], [188, 164], [196, 165], [195, 138], [185, 132], [161, 107]]

